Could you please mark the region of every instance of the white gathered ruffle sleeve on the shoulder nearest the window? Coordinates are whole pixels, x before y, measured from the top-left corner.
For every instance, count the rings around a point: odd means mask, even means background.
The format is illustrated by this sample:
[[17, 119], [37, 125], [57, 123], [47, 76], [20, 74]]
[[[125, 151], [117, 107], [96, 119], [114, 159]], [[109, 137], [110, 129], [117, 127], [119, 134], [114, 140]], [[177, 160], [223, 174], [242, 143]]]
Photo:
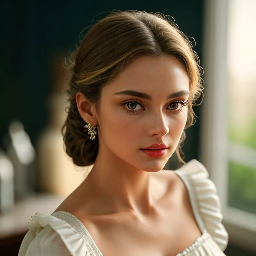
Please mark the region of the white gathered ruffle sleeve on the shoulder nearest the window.
[[202, 233], [208, 232], [224, 251], [228, 233], [222, 225], [220, 200], [214, 183], [208, 178], [206, 168], [197, 160], [191, 160], [175, 171], [185, 184], [193, 213]]

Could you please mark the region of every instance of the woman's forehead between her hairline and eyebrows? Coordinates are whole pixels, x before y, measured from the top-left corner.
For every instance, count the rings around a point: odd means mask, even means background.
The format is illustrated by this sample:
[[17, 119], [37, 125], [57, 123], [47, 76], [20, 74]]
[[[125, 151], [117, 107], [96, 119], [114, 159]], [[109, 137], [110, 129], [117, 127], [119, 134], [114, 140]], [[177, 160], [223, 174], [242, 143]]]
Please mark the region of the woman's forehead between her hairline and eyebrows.
[[125, 67], [104, 90], [111, 93], [133, 90], [153, 95], [159, 91], [171, 94], [189, 91], [189, 77], [183, 63], [174, 56], [143, 56]]

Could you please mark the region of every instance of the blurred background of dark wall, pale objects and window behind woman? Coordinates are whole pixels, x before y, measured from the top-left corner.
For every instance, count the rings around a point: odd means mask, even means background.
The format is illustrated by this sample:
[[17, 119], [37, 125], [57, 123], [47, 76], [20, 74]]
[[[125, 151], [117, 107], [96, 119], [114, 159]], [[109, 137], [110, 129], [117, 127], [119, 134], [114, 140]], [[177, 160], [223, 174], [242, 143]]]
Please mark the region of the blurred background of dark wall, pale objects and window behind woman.
[[256, 255], [255, 0], [1, 1], [1, 255], [17, 255], [29, 217], [51, 213], [88, 174], [63, 151], [63, 63], [107, 12], [131, 9], [170, 15], [195, 39], [204, 101], [194, 108], [185, 160], [200, 160], [216, 184], [225, 253]]

